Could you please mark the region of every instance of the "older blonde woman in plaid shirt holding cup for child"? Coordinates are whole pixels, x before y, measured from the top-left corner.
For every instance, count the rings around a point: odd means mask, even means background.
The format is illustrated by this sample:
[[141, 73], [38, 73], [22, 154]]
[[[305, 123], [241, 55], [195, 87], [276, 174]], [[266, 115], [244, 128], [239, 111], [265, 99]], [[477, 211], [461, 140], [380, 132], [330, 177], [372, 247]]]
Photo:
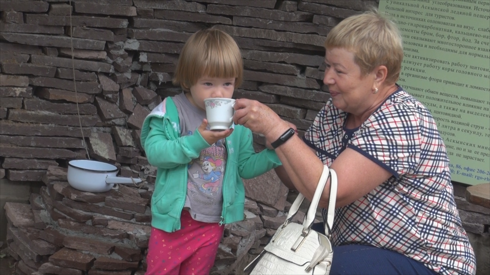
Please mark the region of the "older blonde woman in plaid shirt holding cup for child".
[[[396, 84], [396, 25], [377, 12], [352, 16], [329, 32], [325, 49], [331, 98], [303, 140], [257, 101], [238, 99], [234, 119], [265, 135], [283, 163], [282, 182], [306, 198], [323, 164], [337, 172], [330, 274], [474, 274], [434, 118]], [[322, 207], [329, 190], [327, 182]]]

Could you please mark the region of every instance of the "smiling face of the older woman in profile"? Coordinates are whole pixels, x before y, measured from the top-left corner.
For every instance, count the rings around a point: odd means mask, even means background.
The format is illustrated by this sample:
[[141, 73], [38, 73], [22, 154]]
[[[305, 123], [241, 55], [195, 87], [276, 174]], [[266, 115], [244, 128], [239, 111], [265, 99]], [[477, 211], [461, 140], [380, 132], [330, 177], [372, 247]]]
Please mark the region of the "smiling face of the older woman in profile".
[[362, 114], [370, 103], [374, 75], [361, 76], [354, 54], [343, 48], [327, 49], [325, 64], [323, 83], [328, 86], [334, 106], [354, 115]]

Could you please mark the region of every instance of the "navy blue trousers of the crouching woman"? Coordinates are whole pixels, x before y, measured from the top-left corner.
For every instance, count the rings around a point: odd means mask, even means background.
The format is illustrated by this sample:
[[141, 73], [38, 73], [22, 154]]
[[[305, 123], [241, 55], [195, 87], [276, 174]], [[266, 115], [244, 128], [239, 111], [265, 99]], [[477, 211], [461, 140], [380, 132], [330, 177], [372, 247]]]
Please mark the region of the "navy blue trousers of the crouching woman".
[[[312, 229], [325, 234], [323, 223]], [[434, 275], [433, 270], [401, 253], [368, 245], [343, 245], [333, 248], [330, 275], [343, 274], [417, 274]]]

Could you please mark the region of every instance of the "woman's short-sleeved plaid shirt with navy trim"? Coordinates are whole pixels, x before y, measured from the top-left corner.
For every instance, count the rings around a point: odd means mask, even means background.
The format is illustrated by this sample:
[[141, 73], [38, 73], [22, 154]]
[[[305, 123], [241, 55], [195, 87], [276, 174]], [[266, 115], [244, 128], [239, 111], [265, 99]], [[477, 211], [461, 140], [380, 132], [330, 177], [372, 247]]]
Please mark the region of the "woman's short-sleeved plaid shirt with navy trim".
[[[445, 145], [427, 108], [399, 88], [359, 128], [345, 129], [346, 118], [329, 100], [304, 141], [328, 166], [347, 147], [392, 177], [336, 209], [333, 244], [400, 252], [440, 274], [475, 274], [475, 255], [454, 202]], [[322, 212], [325, 218], [325, 209]]]

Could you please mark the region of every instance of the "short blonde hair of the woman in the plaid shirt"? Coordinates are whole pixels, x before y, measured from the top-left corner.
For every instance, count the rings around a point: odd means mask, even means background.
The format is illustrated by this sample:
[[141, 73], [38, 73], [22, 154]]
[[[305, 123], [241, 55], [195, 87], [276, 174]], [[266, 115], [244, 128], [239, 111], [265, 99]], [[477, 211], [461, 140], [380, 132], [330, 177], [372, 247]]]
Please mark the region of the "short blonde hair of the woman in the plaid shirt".
[[400, 31], [395, 23], [376, 10], [354, 15], [337, 24], [327, 35], [325, 48], [344, 48], [354, 53], [354, 62], [362, 75], [384, 65], [388, 69], [386, 82], [398, 80], [403, 60]]

